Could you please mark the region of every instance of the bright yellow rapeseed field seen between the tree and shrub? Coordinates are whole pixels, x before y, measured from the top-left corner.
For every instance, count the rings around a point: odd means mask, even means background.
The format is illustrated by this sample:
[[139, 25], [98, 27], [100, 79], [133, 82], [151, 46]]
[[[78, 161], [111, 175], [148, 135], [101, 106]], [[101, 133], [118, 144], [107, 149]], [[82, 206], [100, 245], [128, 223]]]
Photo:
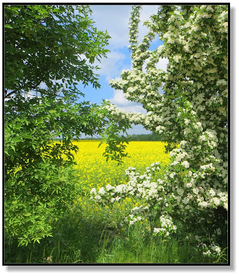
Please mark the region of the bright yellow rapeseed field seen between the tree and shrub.
[[127, 197], [113, 206], [102, 207], [90, 200], [92, 188], [98, 189], [107, 184], [112, 186], [127, 184], [125, 170], [129, 166], [143, 173], [145, 168], [154, 162], [160, 162], [162, 167], [170, 162], [169, 154], [164, 151], [167, 144], [160, 141], [130, 141], [126, 149], [129, 157], [123, 159], [124, 163], [121, 166], [117, 166], [116, 161], [106, 161], [103, 157], [105, 144], [98, 148], [99, 141], [73, 141], [73, 144], [79, 147], [79, 152], [74, 153], [79, 190], [81, 190], [78, 204], [81, 212], [95, 219], [98, 215], [111, 217], [112, 221], [116, 221], [117, 217], [124, 216], [127, 210], [141, 203], [137, 199]]

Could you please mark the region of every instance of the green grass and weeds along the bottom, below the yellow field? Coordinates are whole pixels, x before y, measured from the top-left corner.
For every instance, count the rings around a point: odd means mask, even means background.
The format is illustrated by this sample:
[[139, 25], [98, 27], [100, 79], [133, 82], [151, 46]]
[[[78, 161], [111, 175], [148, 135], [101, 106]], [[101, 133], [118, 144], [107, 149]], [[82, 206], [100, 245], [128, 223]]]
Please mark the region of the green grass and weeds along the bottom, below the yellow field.
[[[179, 234], [167, 239], [154, 237], [145, 224], [136, 224], [119, 231], [109, 221], [87, 217], [77, 208], [54, 224], [54, 237], [41, 244], [17, 247], [17, 241], [6, 240], [7, 263], [64, 264], [183, 264], [213, 263], [193, 246], [179, 246], [185, 237]], [[227, 262], [220, 257], [218, 262]]]

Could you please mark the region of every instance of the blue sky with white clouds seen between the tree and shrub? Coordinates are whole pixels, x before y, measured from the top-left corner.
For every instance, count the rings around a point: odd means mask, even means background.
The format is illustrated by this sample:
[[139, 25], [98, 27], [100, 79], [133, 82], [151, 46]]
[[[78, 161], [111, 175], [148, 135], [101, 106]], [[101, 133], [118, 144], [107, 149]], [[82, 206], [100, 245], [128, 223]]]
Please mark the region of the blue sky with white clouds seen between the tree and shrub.
[[[92, 19], [94, 19], [95, 26], [98, 30], [109, 32], [112, 37], [109, 41], [107, 49], [110, 50], [107, 53], [107, 58], [103, 58], [98, 65], [100, 70], [97, 70], [97, 74], [100, 75], [99, 82], [101, 84], [100, 89], [92, 88], [92, 86], [79, 86], [80, 90], [85, 94], [85, 100], [92, 103], [101, 103], [102, 99], [108, 99], [112, 103], [116, 104], [118, 108], [130, 112], [143, 112], [143, 109], [138, 103], [127, 101], [123, 92], [114, 90], [110, 87], [110, 79], [115, 79], [121, 74], [121, 70], [132, 68], [132, 60], [130, 58], [130, 52], [127, 46], [129, 46], [129, 16], [132, 10], [131, 5], [91, 5], [93, 13]], [[149, 16], [157, 12], [157, 5], [143, 5], [141, 10], [141, 23], [139, 26], [138, 40], [141, 41], [143, 36], [147, 33], [147, 28], [143, 26], [143, 21], [149, 19]], [[155, 39], [151, 48], [156, 48], [162, 41]], [[167, 60], [162, 60], [160, 68], [165, 69], [167, 66]], [[128, 134], [141, 134], [149, 133], [143, 126], [134, 126], [128, 131]]]

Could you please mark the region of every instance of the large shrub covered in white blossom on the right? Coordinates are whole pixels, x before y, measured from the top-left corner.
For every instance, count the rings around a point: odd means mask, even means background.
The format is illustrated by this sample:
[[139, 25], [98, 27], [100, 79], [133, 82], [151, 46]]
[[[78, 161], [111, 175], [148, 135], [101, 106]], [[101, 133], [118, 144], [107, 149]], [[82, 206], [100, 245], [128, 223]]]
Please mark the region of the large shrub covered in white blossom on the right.
[[[104, 108], [119, 121], [163, 133], [172, 162], [158, 181], [152, 181], [152, 174], [160, 164], [143, 175], [129, 168], [127, 184], [93, 189], [92, 199], [110, 204], [139, 197], [142, 205], [125, 222], [158, 218], [154, 233], [169, 235], [176, 230], [173, 221], [180, 220], [198, 237], [220, 242], [227, 236], [228, 204], [227, 6], [159, 6], [145, 22], [149, 32], [139, 43], [140, 9], [134, 6], [129, 24], [132, 70], [123, 70], [110, 85], [141, 103], [147, 114], [111, 104]], [[149, 50], [155, 37], [163, 45]], [[165, 71], [157, 68], [163, 58], [169, 61]], [[220, 254], [218, 247], [210, 250]]]

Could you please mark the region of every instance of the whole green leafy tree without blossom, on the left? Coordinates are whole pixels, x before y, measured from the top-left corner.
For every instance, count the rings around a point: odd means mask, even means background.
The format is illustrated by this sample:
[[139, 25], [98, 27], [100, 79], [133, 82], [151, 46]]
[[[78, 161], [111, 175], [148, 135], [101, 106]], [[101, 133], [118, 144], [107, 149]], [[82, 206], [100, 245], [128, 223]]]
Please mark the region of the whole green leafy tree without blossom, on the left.
[[105, 156], [120, 161], [118, 132], [127, 124], [99, 106], [75, 103], [83, 96], [79, 81], [100, 87], [92, 64], [107, 53], [109, 35], [94, 28], [89, 6], [4, 8], [6, 241], [27, 246], [51, 236], [51, 222], [80, 196], [70, 139], [105, 135]]

